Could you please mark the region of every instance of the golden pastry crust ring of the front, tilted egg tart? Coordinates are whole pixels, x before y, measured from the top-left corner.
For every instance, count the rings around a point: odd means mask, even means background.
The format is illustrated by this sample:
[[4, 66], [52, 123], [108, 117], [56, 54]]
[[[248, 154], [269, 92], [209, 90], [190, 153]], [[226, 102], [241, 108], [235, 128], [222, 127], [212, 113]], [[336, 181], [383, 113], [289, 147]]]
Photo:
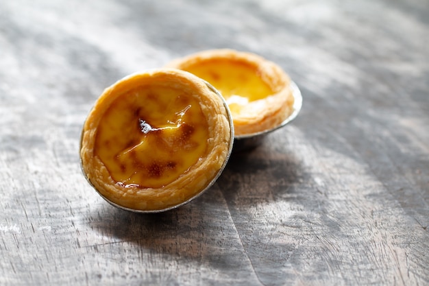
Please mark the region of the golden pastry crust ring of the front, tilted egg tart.
[[[177, 93], [193, 97], [199, 102], [208, 126], [206, 150], [191, 167], [175, 180], [161, 187], [127, 185], [114, 180], [110, 170], [95, 152], [95, 141], [101, 119], [106, 110], [120, 97], [136, 88], [175, 88]], [[80, 156], [86, 178], [109, 202], [137, 211], [157, 211], [187, 202], [206, 189], [219, 176], [232, 147], [233, 129], [228, 108], [223, 99], [206, 83], [184, 71], [156, 69], [136, 73], [113, 84], [101, 94], [90, 111], [82, 131]], [[182, 154], [186, 156], [186, 154]]]

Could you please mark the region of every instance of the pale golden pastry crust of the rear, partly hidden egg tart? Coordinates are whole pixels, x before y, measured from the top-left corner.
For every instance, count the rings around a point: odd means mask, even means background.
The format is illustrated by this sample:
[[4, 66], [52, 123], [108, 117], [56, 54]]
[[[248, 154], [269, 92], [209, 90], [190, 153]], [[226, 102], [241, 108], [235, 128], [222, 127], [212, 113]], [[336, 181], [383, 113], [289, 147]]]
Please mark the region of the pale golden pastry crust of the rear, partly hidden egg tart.
[[[216, 80], [210, 76], [199, 74], [197, 69], [204, 67], [207, 69], [212, 65], [212, 71], [216, 71], [217, 62], [228, 62], [229, 68], [234, 69], [245, 67], [249, 73], [254, 73], [260, 77], [262, 82], [267, 84], [270, 93], [263, 98], [252, 100], [245, 104], [237, 112], [234, 112], [232, 104], [232, 118], [234, 121], [234, 132], [236, 136], [255, 134], [263, 132], [280, 125], [293, 112], [294, 98], [291, 93], [291, 80], [289, 76], [277, 65], [269, 60], [265, 60], [254, 53], [235, 51], [232, 49], [214, 49], [194, 53], [184, 58], [173, 60], [167, 67], [189, 71], [195, 75], [210, 82], [221, 93], [224, 91], [219, 88]], [[222, 71], [219, 71], [222, 73]], [[246, 84], [246, 82], [236, 82], [237, 85]], [[228, 99], [227, 99], [228, 102]], [[229, 103], [228, 103], [229, 104]]]

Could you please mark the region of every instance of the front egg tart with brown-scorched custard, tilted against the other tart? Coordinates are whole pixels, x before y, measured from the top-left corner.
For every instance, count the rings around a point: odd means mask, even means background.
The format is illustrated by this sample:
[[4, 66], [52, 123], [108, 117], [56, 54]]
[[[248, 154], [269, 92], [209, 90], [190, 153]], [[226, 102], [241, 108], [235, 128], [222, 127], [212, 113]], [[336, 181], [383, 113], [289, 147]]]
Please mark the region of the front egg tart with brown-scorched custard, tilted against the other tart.
[[164, 211], [210, 187], [232, 150], [228, 106], [191, 73], [156, 69], [106, 88], [82, 131], [88, 182], [108, 202]]

